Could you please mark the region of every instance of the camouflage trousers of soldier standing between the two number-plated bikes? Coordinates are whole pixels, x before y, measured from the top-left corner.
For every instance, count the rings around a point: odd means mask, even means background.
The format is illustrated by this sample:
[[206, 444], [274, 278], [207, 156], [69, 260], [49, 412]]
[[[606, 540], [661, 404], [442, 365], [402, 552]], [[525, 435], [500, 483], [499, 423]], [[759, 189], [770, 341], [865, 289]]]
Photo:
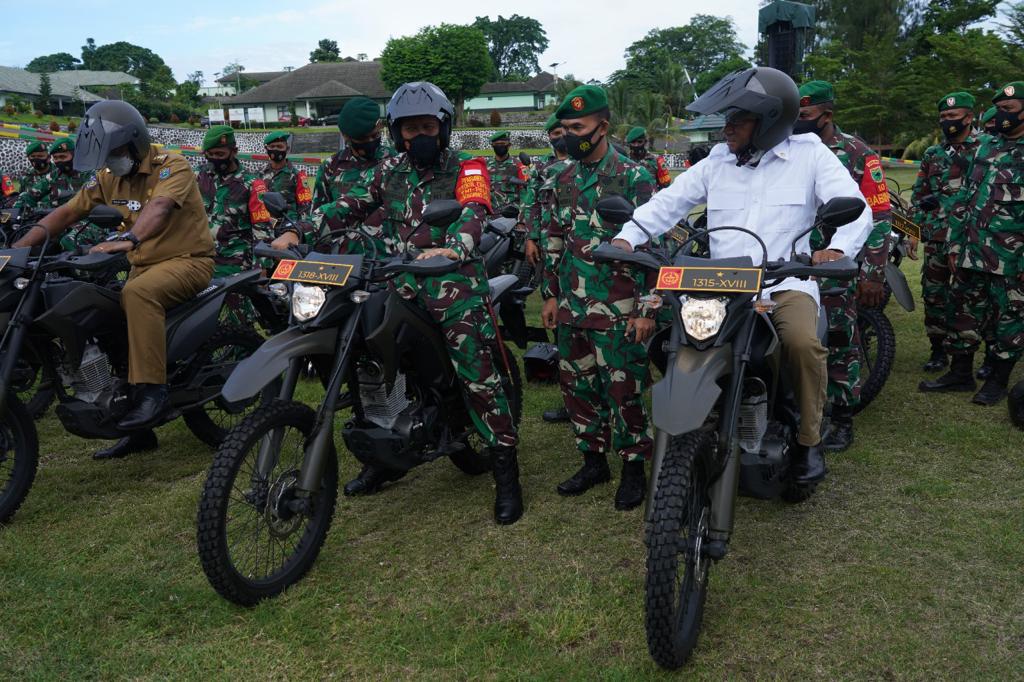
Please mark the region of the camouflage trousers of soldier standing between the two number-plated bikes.
[[582, 453], [618, 453], [626, 461], [650, 455], [643, 401], [647, 350], [626, 330], [558, 327], [558, 380]]

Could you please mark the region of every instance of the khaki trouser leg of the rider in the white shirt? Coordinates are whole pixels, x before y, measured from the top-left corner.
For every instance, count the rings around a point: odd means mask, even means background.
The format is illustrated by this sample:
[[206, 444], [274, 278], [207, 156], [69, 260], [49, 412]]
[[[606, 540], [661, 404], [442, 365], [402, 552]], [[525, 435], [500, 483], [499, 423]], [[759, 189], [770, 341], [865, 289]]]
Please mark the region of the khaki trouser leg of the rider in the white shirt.
[[818, 340], [818, 306], [802, 291], [772, 294], [775, 310], [772, 323], [782, 342], [782, 365], [788, 371], [800, 404], [801, 445], [821, 441], [821, 411], [828, 383], [828, 351]]

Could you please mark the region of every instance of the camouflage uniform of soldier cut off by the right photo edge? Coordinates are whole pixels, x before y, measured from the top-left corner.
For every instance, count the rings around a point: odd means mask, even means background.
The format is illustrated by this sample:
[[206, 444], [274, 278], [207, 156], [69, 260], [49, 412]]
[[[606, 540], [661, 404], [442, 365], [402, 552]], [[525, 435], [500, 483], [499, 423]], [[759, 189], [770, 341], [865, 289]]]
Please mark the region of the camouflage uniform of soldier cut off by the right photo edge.
[[973, 353], [993, 325], [992, 355], [1024, 350], [1024, 138], [983, 136], [951, 202], [949, 253], [956, 258], [946, 349]]

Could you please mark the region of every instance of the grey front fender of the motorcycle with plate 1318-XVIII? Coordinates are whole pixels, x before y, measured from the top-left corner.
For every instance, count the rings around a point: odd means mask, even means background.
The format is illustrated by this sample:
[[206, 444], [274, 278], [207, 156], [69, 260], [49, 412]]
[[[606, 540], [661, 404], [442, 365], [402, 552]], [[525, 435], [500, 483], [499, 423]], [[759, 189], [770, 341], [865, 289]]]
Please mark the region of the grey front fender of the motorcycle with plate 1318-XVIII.
[[333, 355], [337, 340], [338, 330], [333, 327], [309, 333], [286, 330], [239, 363], [220, 393], [228, 402], [251, 398], [287, 370], [293, 357]]

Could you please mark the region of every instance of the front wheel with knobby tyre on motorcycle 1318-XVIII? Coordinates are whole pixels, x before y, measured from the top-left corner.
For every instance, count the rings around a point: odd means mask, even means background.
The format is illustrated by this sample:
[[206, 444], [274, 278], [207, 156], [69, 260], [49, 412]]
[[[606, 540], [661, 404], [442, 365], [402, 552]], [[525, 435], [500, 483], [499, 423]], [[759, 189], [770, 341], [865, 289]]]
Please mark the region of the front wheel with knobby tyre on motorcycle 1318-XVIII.
[[[338, 457], [331, 444], [319, 489], [298, 491], [315, 414], [298, 402], [257, 409], [224, 438], [200, 498], [196, 525], [203, 571], [243, 606], [299, 582], [319, 554], [338, 500]], [[261, 447], [272, 466], [260, 471]]]

